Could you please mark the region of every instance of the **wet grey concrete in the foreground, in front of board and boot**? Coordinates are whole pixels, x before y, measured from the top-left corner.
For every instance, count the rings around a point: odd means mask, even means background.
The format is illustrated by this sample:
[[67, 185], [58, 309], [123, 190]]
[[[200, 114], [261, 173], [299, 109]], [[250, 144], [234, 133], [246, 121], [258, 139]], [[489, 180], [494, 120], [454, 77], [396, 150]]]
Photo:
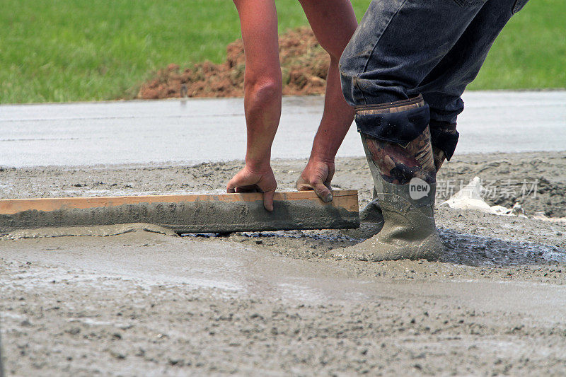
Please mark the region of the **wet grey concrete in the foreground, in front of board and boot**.
[[270, 236], [239, 237], [1, 241], [6, 373], [564, 371], [563, 263], [305, 259], [282, 255]]

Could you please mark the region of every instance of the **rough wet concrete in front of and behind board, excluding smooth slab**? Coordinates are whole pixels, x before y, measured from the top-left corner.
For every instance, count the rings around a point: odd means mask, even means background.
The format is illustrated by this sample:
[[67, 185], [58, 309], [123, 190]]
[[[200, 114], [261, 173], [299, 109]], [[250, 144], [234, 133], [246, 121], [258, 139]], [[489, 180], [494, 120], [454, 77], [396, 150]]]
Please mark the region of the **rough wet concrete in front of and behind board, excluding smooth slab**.
[[[305, 162], [275, 161], [281, 190]], [[0, 179], [5, 197], [221, 192], [240, 167], [26, 168]], [[337, 161], [335, 186], [360, 190], [361, 206], [366, 169]], [[0, 240], [6, 373], [563, 375], [566, 228], [533, 214], [564, 216], [565, 172], [565, 153], [456, 156], [439, 182], [545, 183], [536, 197], [487, 198], [519, 201], [527, 218], [437, 208], [439, 262], [325, 258], [358, 242], [335, 230], [179, 237], [138, 224]]]

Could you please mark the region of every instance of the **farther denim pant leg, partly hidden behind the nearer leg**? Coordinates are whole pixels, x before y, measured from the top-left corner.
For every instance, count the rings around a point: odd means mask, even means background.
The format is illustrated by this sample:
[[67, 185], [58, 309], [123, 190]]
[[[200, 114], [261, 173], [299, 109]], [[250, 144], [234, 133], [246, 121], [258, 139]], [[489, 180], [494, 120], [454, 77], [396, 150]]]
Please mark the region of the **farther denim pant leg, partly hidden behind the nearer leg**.
[[487, 52], [504, 25], [527, 1], [487, 1], [456, 45], [417, 88], [409, 91], [410, 95], [422, 94], [429, 105], [431, 130], [435, 124], [456, 123], [456, 117], [464, 108], [461, 99], [464, 89], [478, 76]]

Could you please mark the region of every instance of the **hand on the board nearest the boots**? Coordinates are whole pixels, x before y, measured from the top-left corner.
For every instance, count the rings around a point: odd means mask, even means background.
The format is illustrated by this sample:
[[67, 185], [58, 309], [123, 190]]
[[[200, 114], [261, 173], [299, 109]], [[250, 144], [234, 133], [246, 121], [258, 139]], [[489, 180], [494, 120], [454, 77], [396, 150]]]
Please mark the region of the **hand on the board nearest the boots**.
[[323, 202], [332, 202], [330, 182], [334, 177], [334, 161], [308, 160], [303, 173], [296, 180], [299, 191], [314, 190]]

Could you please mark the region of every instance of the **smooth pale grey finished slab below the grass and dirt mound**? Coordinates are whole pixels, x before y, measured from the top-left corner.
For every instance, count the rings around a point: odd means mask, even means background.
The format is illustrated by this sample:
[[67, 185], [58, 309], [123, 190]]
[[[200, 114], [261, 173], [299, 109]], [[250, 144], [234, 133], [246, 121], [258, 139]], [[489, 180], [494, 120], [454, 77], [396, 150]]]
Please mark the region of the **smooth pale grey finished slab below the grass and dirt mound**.
[[[456, 153], [559, 151], [566, 91], [467, 92]], [[308, 157], [323, 97], [286, 97], [273, 158]], [[241, 98], [0, 105], [0, 166], [79, 166], [241, 159]], [[536, 132], [533, 132], [536, 129]], [[339, 157], [363, 156], [355, 127]]]

